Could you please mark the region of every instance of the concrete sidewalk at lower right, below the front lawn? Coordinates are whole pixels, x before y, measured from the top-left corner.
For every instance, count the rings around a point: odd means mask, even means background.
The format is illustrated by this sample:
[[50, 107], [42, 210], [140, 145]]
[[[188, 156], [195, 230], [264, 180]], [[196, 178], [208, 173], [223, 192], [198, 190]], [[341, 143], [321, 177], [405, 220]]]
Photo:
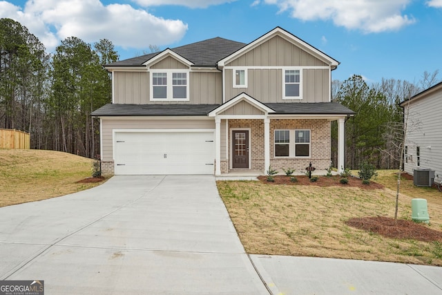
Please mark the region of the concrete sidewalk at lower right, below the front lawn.
[[442, 294], [442, 267], [251, 255], [271, 294]]

